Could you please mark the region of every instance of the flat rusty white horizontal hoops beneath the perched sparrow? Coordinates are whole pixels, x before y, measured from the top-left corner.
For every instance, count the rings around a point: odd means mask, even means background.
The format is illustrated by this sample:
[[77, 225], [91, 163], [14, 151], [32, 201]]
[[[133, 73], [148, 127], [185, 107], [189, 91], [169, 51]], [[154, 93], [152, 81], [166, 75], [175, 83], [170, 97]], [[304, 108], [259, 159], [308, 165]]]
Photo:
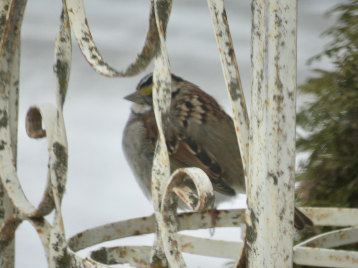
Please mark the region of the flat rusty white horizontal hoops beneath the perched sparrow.
[[[318, 208], [299, 208], [305, 213], [312, 213], [316, 211]], [[320, 212], [317, 214], [313, 214], [316, 216], [312, 217], [314, 223], [319, 223], [320, 218], [324, 217], [328, 220], [324, 222], [326, 223], [334, 223], [336, 218], [346, 219], [345, 217], [348, 215], [354, 215], [358, 213], [358, 209], [333, 209], [333, 208], [319, 208]], [[310, 215], [310, 214], [309, 214]], [[182, 213], [178, 215], [178, 230], [195, 230], [199, 228], [208, 228], [211, 226], [211, 214], [209, 212], [190, 212], [190, 213]], [[238, 227], [240, 223], [245, 220], [245, 209], [231, 209], [231, 210], [220, 210], [218, 211], [216, 217], [216, 227]], [[357, 220], [357, 219], [355, 219]], [[333, 222], [332, 222], [333, 221]], [[133, 235], [142, 235], [148, 233], [154, 233], [154, 215], [150, 217], [142, 217], [136, 219], [124, 220], [121, 222], [110, 223], [102, 226], [98, 226], [96, 228], [88, 229], [84, 232], [78, 233], [74, 235], [72, 238], [68, 240], [69, 252], [72, 255], [78, 250], [82, 250], [87, 247], [91, 247], [95, 244], [99, 244], [108, 240], [115, 240], [124, 237], [130, 237]], [[340, 223], [342, 224], [342, 223]], [[348, 222], [349, 225], [357, 225], [354, 222], [354, 219]], [[316, 224], [319, 225], [319, 224]], [[298, 264], [306, 264], [308, 265], [308, 260], [306, 260], [306, 255], [309, 254], [312, 258], [315, 258], [315, 252], [319, 252], [317, 256], [322, 254], [323, 248], [315, 249], [313, 247], [332, 247], [342, 244], [354, 243], [357, 236], [351, 228], [343, 229], [337, 231], [335, 234], [327, 234], [328, 237], [325, 237], [325, 234], [319, 235], [313, 239], [310, 239], [304, 243], [301, 243], [294, 248], [294, 261]], [[192, 254], [199, 254], [205, 256], [216, 256], [222, 258], [236, 258], [238, 252], [240, 252], [240, 248], [242, 247], [242, 243], [237, 242], [228, 242], [228, 241], [220, 241], [206, 238], [198, 238], [191, 237], [188, 235], [179, 234], [178, 236], [179, 249], [182, 252], [188, 252]], [[336, 239], [337, 238], [337, 239]], [[332, 244], [334, 243], [334, 244]], [[337, 244], [338, 243], [338, 244]], [[309, 246], [309, 248], [308, 248]], [[111, 260], [112, 263], [130, 263], [135, 267], [147, 267], [145, 264], [149, 263], [150, 259], [150, 251], [151, 247], [137, 247], [137, 246], [118, 246], [113, 248], [101, 248], [95, 250], [94, 253], [89, 253], [88, 258], [93, 258], [94, 263], [99, 264], [108, 264]], [[303, 254], [303, 252], [305, 252]], [[102, 258], [100, 258], [101, 254]], [[107, 257], [104, 258], [103, 256]], [[120, 256], [114, 256], [113, 254], [119, 254]], [[334, 255], [335, 252], [332, 250], [329, 251], [331, 256]], [[335, 264], [332, 263], [329, 267], [342, 267], [349, 261], [354, 261], [355, 252], [349, 251], [339, 251], [338, 255], [345, 254], [347, 257], [343, 264]], [[112, 256], [111, 258], [109, 256]], [[133, 256], [137, 256], [134, 258]], [[311, 257], [310, 257], [311, 258]], [[319, 257], [318, 259], [320, 259]], [[315, 260], [316, 262], [317, 260]], [[319, 260], [319, 265], [323, 265], [323, 260]], [[317, 264], [318, 265], [318, 264]], [[343, 266], [344, 267], [344, 266]]]

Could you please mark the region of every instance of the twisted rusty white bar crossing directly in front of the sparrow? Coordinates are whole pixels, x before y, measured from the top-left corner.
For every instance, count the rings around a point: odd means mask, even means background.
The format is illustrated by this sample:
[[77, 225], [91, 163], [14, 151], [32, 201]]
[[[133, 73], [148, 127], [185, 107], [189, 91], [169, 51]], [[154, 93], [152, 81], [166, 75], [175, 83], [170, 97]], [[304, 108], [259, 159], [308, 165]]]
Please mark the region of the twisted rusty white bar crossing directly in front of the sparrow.
[[[158, 126], [158, 142], [154, 152], [152, 167], [152, 200], [156, 219], [156, 232], [151, 252], [150, 267], [171, 267], [172, 265], [175, 265], [175, 267], [185, 267], [183, 258], [178, 256], [178, 258], [174, 260], [172, 255], [166, 254], [162, 240], [162, 232], [167, 224], [169, 224], [168, 219], [165, 219], [166, 222], [164, 221], [163, 214], [161, 213], [161, 201], [170, 176], [169, 155], [164, 133], [169, 123], [168, 118], [171, 101], [171, 73], [165, 44], [165, 20], [169, 18], [171, 3], [170, 0], [154, 1], [155, 21], [158, 30], [160, 50], [156, 54], [153, 70], [153, 108], [156, 125]], [[175, 222], [175, 219], [171, 218], [171, 222]], [[172, 241], [173, 248], [175, 248], [174, 243], [175, 242]]]

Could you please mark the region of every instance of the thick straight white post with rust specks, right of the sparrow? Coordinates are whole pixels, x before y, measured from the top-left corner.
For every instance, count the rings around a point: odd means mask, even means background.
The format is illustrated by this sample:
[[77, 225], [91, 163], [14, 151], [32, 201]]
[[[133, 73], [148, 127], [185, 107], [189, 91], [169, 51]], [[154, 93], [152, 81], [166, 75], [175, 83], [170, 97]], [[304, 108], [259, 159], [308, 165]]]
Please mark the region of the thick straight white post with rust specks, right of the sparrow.
[[292, 267], [296, 0], [253, 0], [248, 267]]

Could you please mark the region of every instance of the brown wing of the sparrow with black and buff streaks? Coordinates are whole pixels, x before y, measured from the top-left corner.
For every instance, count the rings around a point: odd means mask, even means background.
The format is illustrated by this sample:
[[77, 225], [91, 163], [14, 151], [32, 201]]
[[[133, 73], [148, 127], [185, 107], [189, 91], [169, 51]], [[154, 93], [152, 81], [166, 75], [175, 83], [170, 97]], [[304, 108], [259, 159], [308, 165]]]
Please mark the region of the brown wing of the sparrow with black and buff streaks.
[[[215, 191], [233, 196], [235, 190], [223, 179], [217, 159], [208, 148], [195, 142], [193, 133], [189, 131], [189, 125], [205, 125], [209, 120], [221, 120], [226, 116], [211, 96], [195, 86], [190, 94], [178, 96], [172, 103], [165, 140], [172, 172], [184, 167], [200, 168], [208, 175]], [[143, 115], [142, 120], [148, 131], [147, 137], [154, 144], [158, 138], [154, 113]]]

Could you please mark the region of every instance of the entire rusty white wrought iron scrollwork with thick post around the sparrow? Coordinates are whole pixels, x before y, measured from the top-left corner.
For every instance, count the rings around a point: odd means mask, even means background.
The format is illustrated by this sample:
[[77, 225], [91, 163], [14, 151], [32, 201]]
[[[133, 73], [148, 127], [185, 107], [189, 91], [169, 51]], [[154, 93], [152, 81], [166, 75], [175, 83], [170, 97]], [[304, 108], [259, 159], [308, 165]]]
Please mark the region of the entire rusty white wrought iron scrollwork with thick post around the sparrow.
[[[212, 185], [197, 168], [179, 169], [170, 175], [163, 129], [170, 104], [170, 64], [165, 32], [171, 11], [170, 0], [150, 2], [145, 44], [135, 61], [118, 71], [106, 63], [89, 31], [82, 0], [63, 1], [55, 42], [55, 94], [57, 105], [35, 105], [26, 115], [31, 138], [47, 138], [49, 164], [43, 198], [34, 207], [21, 189], [16, 173], [20, 29], [25, 0], [0, 3], [1, 98], [0, 98], [0, 265], [14, 265], [15, 230], [24, 220], [36, 229], [49, 267], [185, 267], [181, 252], [237, 258], [245, 250], [248, 267], [292, 267], [292, 262], [329, 267], [357, 267], [358, 253], [334, 250], [358, 241], [358, 228], [321, 234], [293, 247], [294, 152], [296, 108], [296, 1], [252, 3], [251, 115], [247, 113], [239, 70], [232, 46], [223, 0], [208, 0], [219, 55], [244, 164], [248, 210], [222, 210], [215, 225], [239, 226], [246, 219], [243, 242], [218, 241], [178, 234], [178, 230], [207, 228], [212, 218], [206, 210], [213, 204]], [[71, 70], [71, 29], [94, 70], [108, 77], [140, 73], [154, 58], [154, 107], [159, 126], [158, 150], [153, 165], [151, 217], [125, 220], [85, 230], [66, 240], [61, 203], [66, 187], [68, 145], [63, 119]], [[249, 127], [249, 121], [251, 125]], [[44, 127], [42, 125], [44, 123]], [[275, 179], [267, 180], [267, 174]], [[276, 175], [275, 175], [276, 174]], [[278, 175], [277, 175], [278, 174]], [[174, 187], [191, 178], [197, 195]], [[170, 204], [178, 198], [198, 212], [177, 215]], [[44, 216], [55, 211], [49, 223]], [[357, 226], [357, 209], [302, 208], [316, 225]], [[202, 212], [201, 212], [202, 211]], [[178, 221], [177, 221], [178, 219]], [[118, 246], [92, 251], [86, 259], [77, 251], [98, 243], [133, 235], [155, 233], [153, 247]], [[219, 249], [219, 250], [218, 250]], [[268, 264], [269, 263], [269, 264]]]

